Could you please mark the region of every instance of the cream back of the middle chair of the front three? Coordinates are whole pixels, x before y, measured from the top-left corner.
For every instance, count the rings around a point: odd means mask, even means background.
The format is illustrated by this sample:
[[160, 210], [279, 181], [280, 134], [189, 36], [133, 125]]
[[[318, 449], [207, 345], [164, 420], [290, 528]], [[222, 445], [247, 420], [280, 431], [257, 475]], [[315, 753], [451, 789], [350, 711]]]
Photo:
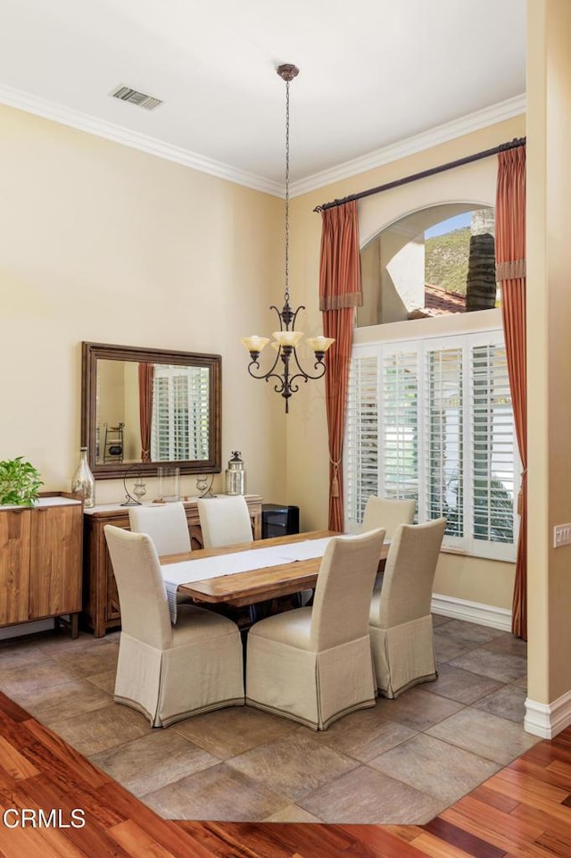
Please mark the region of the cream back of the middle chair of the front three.
[[368, 612], [385, 530], [333, 537], [321, 566], [311, 614], [311, 644], [331, 649], [368, 636]]

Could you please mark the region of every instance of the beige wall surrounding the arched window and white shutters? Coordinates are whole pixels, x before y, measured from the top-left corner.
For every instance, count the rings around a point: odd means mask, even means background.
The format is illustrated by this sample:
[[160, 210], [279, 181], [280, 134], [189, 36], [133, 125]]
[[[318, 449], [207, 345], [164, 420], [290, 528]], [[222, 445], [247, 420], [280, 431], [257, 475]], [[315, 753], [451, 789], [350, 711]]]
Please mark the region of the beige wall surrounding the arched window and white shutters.
[[[319, 237], [321, 218], [312, 210], [316, 204], [377, 187], [393, 179], [408, 176], [445, 162], [454, 161], [513, 137], [525, 134], [525, 118], [501, 122], [466, 137], [459, 137], [424, 153], [411, 155], [398, 162], [386, 164], [353, 179], [321, 188], [294, 199], [292, 206], [292, 298], [294, 304], [306, 304], [305, 329], [319, 327]], [[429, 205], [454, 202], [495, 204], [496, 159], [486, 158], [464, 167], [443, 172], [438, 176], [413, 182], [359, 203], [360, 244], [365, 246], [372, 237], [393, 221]], [[472, 315], [480, 315], [478, 313]], [[500, 314], [496, 317], [500, 322]], [[401, 326], [433, 323], [438, 320], [407, 321], [384, 325], [385, 336], [401, 336]], [[476, 320], [474, 321], [476, 324]], [[304, 329], [300, 324], [300, 329]], [[393, 332], [391, 333], [391, 329]], [[356, 332], [356, 341], [365, 341], [368, 329]], [[411, 331], [405, 327], [405, 330]], [[426, 330], [423, 328], [423, 330]], [[396, 332], [396, 333], [395, 333]], [[370, 335], [369, 335], [370, 336]], [[410, 333], [409, 333], [410, 336]], [[327, 427], [323, 382], [310, 382], [303, 387], [288, 418], [287, 432], [287, 503], [298, 504], [302, 524], [307, 529], [327, 527], [328, 453]], [[445, 555], [439, 562], [434, 584], [435, 592], [500, 608], [511, 608], [514, 567], [511, 563], [486, 562], [475, 558], [459, 559]]]

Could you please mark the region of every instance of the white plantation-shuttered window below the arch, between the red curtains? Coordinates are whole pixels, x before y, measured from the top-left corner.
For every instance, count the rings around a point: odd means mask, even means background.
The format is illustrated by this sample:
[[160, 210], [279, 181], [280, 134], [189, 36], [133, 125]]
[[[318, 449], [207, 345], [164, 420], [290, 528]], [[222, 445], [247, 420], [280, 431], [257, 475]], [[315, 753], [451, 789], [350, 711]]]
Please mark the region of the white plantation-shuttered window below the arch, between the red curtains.
[[344, 441], [345, 518], [369, 495], [446, 517], [444, 544], [515, 559], [519, 458], [501, 329], [354, 346]]

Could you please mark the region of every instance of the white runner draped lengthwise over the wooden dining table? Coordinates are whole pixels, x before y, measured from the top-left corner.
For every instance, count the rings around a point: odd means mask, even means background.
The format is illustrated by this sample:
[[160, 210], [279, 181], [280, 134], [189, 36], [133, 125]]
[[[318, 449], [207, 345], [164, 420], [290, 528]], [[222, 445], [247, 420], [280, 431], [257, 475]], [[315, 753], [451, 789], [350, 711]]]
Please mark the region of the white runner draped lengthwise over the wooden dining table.
[[203, 557], [196, 560], [183, 560], [161, 566], [162, 577], [170, 608], [170, 620], [177, 621], [177, 589], [180, 584], [220, 578], [222, 575], [236, 575], [237, 572], [249, 572], [252, 569], [264, 569], [267, 566], [293, 563], [322, 557], [327, 544], [333, 537], [323, 539], [304, 539], [287, 546], [269, 546], [252, 548], [249, 551], [236, 551], [232, 554], [219, 554], [216, 557]]

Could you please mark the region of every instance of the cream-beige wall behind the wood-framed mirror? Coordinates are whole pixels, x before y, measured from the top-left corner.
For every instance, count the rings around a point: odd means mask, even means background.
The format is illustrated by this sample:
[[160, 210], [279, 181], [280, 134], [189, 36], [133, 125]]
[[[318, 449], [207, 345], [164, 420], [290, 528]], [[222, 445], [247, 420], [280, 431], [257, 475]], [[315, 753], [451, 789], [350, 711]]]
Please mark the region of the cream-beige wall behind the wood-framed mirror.
[[[222, 468], [241, 450], [248, 489], [281, 501], [281, 400], [248, 377], [239, 337], [273, 324], [283, 202], [9, 107], [0, 123], [0, 458], [69, 489], [82, 340], [209, 352], [222, 355]], [[95, 493], [122, 500], [122, 482]]]

